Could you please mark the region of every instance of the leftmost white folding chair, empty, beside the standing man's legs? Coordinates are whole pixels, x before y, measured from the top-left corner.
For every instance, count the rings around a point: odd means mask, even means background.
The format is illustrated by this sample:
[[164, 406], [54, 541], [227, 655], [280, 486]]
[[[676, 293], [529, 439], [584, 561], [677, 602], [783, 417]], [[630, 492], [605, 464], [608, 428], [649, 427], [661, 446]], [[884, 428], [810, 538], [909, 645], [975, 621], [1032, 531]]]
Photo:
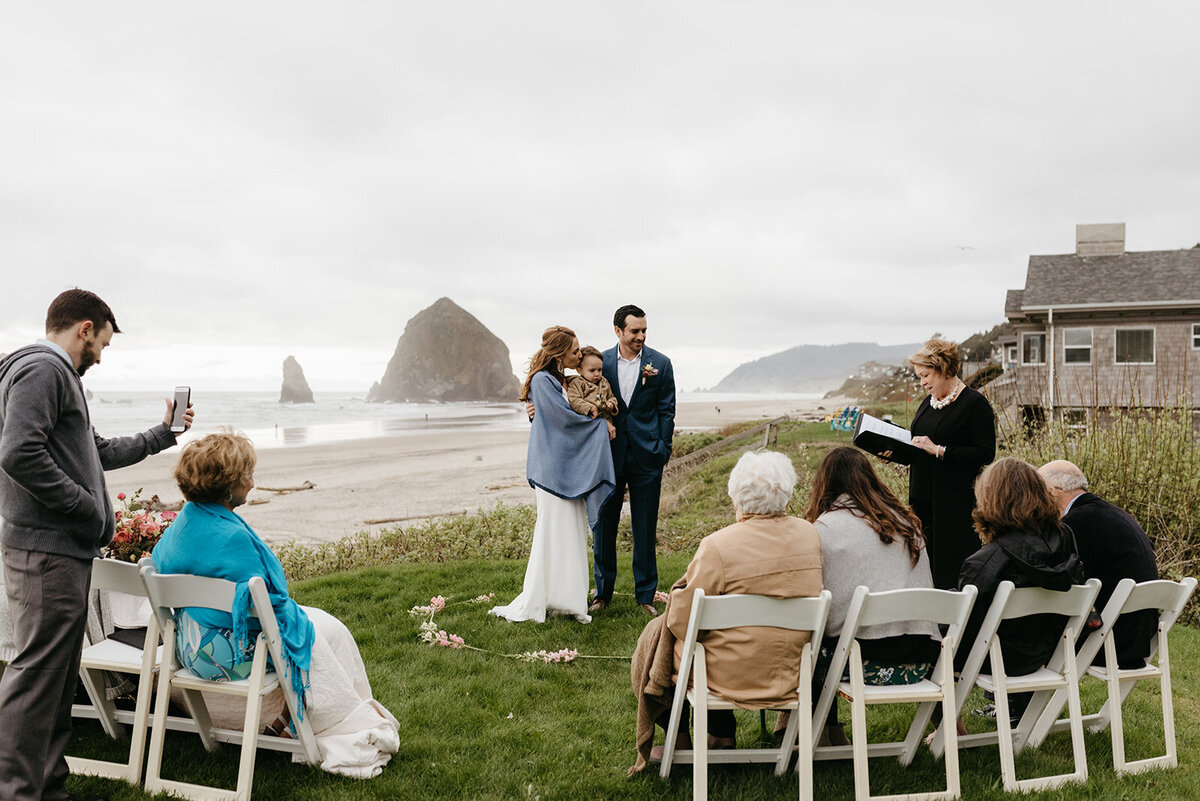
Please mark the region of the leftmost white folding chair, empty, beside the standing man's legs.
[[[145, 585], [138, 574], [138, 566], [115, 559], [94, 559], [91, 562], [91, 586], [95, 590], [125, 592], [145, 597]], [[146, 621], [146, 645], [134, 648], [114, 639], [91, 643], [83, 649], [79, 661], [79, 677], [83, 680], [91, 706], [74, 705], [76, 717], [98, 718], [104, 733], [114, 740], [125, 736], [124, 725], [132, 725], [130, 734], [130, 758], [125, 763], [102, 759], [67, 757], [72, 773], [119, 778], [131, 784], [142, 782], [142, 761], [145, 758], [146, 727], [150, 723], [150, 697], [154, 694], [154, 674], [161, 658], [158, 625], [150, 615]], [[133, 711], [119, 710], [104, 692], [101, 671], [124, 673], [138, 676], [138, 698]]]

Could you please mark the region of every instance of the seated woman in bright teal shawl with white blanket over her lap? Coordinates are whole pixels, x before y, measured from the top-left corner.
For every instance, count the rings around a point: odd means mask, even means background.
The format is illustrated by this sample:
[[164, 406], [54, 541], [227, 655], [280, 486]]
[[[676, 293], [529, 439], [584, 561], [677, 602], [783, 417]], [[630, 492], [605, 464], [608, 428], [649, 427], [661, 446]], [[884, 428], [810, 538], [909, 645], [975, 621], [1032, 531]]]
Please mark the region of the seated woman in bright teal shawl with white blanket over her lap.
[[[179, 454], [175, 481], [187, 502], [154, 549], [160, 573], [223, 578], [236, 584], [234, 613], [176, 613], [180, 663], [211, 681], [244, 679], [260, 626], [250, 615], [250, 579], [266, 584], [280, 624], [283, 656], [302, 713], [310, 716], [322, 769], [367, 778], [400, 748], [396, 718], [371, 697], [354, 637], [332, 615], [288, 596], [283, 566], [233, 510], [254, 488], [254, 446], [242, 434], [209, 434]], [[272, 728], [287, 729], [278, 721]]]

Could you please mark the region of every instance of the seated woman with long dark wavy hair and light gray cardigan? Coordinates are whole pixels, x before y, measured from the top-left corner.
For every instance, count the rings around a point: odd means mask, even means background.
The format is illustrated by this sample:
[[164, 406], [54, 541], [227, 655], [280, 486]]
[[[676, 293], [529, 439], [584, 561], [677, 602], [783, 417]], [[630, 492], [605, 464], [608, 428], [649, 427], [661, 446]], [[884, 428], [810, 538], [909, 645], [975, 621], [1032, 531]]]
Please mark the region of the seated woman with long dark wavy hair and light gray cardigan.
[[[826, 638], [814, 671], [820, 693], [841, 636], [850, 600], [859, 585], [872, 592], [934, 586], [920, 519], [888, 489], [856, 448], [835, 447], [821, 460], [804, 513], [821, 536], [824, 586], [833, 595]], [[911, 685], [934, 667], [941, 636], [934, 624], [906, 621], [859, 630], [863, 674], [869, 685]], [[845, 745], [836, 704], [822, 735]]]

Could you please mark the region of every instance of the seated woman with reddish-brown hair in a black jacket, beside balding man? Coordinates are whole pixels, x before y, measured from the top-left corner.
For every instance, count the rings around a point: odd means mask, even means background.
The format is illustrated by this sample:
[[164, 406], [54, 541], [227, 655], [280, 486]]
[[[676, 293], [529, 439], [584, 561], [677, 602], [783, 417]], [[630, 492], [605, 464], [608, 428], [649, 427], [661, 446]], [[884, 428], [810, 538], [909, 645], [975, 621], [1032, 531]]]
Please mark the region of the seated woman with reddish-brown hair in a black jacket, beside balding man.
[[[1068, 590], [1084, 580], [1074, 535], [1060, 519], [1050, 488], [1031, 464], [1006, 457], [985, 468], [976, 481], [973, 518], [984, 546], [962, 562], [959, 589], [973, 584], [979, 596], [955, 656], [956, 669], [966, 662], [1001, 582]], [[997, 633], [1004, 673], [1021, 676], [1045, 666], [1064, 624], [1062, 615], [1050, 614], [1002, 622]], [[1009, 698], [1014, 724], [1030, 697], [1018, 693]]]

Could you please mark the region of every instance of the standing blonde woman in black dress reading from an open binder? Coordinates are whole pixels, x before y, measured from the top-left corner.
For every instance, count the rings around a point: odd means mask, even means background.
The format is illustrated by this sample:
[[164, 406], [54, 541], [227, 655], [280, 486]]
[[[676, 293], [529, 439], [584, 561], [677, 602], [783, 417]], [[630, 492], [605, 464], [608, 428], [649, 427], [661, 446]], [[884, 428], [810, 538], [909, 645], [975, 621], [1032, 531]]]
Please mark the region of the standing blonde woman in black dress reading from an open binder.
[[934, 586], [954, 590], [962, 561], [979, 549], [974, 480], [996, 457], [996, 416], [959, 378], [955, 343], [930, 339], [908, 363], [929, 392], [912, 418], [912, 444], [924, 453], [908, 472], [908, 505], [920, 518]]

